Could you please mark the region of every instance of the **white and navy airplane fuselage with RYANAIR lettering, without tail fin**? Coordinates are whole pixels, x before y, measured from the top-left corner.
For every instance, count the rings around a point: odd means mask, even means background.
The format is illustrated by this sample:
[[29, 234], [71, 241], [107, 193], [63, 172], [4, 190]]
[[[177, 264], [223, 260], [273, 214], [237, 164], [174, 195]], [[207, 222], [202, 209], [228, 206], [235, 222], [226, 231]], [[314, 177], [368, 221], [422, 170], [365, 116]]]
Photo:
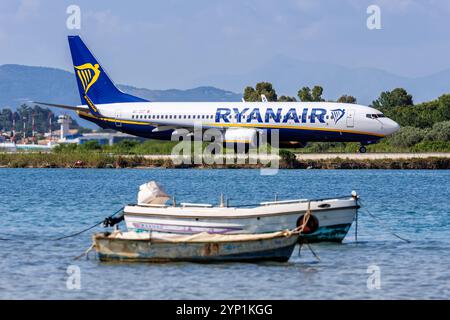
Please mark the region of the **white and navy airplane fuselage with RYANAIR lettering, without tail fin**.
[[99, 121], [119, 131], [148, 133], [147, 137], [156, 131], [201, 125], [205, 129], [279, 129], [283, 140], [287, 136], [293, 141], [371, 141], [399, 129], [374, 108], [334, 102], [132, 102], [96, 107], [102, 116]]

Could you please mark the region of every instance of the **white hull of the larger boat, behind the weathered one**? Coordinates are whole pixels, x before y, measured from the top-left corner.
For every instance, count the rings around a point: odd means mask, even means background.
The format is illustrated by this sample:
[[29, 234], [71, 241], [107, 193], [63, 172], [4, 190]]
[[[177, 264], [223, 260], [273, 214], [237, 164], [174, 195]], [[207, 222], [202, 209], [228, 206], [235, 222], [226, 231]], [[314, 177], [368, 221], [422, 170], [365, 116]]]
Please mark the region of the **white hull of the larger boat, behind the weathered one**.
[[[324, 208], [324, 205], [325, 206]], [[139, 210], [140, 209], [140, 210]], [[264, 206], [252, 209], [236, 208], [136, 208], [127, 207], [127, 229], [151, 232], [154, 236], [170, 236], [207, 232], [211, 234], [270, 233], [293, 229], [306, 213], [307, 203]], [[311, 213], [318, 229], [301, 235], [308, 242], [341, 242], [357, 214], [356, 199], [320, 200], [311, 202]]]

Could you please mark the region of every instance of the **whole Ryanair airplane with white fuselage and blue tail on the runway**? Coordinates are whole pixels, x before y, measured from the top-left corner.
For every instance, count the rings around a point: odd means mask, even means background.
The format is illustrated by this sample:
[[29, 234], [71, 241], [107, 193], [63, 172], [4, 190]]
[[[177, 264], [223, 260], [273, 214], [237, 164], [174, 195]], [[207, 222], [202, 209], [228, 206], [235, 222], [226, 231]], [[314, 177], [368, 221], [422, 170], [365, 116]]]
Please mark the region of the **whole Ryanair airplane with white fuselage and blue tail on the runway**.
[[[122, 92], [79, 36], [68, 36], [81, 105], [36, 102], [74, 110], [102, 128], [134, 136], [172, 140], [195, 126], [216, 128], [223, 142], [254, 146], [261, 131], [278, 129], [279, 146], [305, 147], [311, 141], [366, 145], [399, 130], [382, 112], [363, 105], [335, 102], [150, 102]], [[178, 139], [177, 139], [178, 140]], [[269, 141], [270, 142], [270, 141]], [[248, 150], [248, 149], [247, 149]]]

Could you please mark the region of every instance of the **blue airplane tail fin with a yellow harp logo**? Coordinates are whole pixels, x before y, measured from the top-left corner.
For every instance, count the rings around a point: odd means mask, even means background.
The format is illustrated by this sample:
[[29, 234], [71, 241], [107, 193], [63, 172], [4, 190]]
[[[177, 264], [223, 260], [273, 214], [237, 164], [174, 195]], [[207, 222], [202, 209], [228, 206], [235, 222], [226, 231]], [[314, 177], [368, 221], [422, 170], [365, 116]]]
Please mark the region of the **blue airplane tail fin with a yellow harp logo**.
[[83, 105], [147, 101], [120, 91], [79, 36], [69, 36], [69, 46]]

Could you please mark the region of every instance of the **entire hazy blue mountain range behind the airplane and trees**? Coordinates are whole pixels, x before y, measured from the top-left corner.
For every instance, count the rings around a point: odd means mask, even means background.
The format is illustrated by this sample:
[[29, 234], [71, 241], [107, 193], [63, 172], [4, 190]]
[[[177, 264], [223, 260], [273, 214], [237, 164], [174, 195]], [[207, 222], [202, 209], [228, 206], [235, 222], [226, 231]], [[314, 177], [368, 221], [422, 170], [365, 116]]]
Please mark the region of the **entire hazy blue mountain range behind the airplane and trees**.
[[[426, 77], [408, 78], [375, 68], [349, 68], [305, 62], [282, 55], [250, 72], [218, 74], [195, 81], [197, 84], [211, 85], [207, 87], [189, 90], [149, 90], [128, 85], [119, 87], [150, 101], [240, 101], [241, 94], [235, 92], [243, 92], [246, 86], [254, 86], [259, 81], [273, 83], [279, 95], [292, 96], [297, 95], [300, 87], [319, 84], [324, 88], [326, 99], [337, 99], [342, 94], [350, 94], [362, 104], [370, 104], [382, 91], [396, 87], [405, 88], [413, 95], [415, 102], [428, 101], [450, 92], [450, 70]], [[73, 73], [46, 67], [1, 65], [0, 108], [10, 106], [15, 109], [30, 100], [78, 104], [79, 96]], [[60, 109], [54, 110], [61, 112]], [[91, 123], [78, 120], [81, 125], [92, 127]]]

